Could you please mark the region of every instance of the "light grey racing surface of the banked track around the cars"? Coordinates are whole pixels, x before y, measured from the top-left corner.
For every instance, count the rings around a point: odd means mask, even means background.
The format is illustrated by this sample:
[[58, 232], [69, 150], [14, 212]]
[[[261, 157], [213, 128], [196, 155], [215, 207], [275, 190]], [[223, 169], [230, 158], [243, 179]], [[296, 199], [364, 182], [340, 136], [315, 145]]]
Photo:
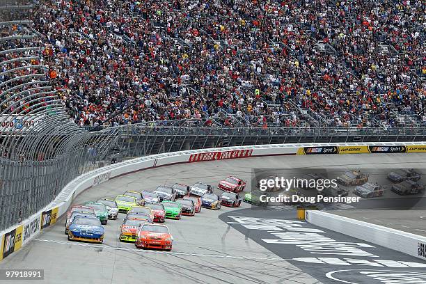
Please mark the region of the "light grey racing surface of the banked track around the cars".
[[[311, 155], [182, 164], [110, 180], [84, 191], [74, 203], [111, 197], [126, 190], [153, 190], [160, 184], [171, 185], [175, 182], [193, 184], [203, 181], [216, 186], [219, 180], [228, 175], [237, 175], [249, 181], [252, 168], [423, 168], [424, 158], [425, 155], [420, 154]], [[250, 186], [248, 183], [247, 188]], [[282, 248], [274, 251], [274, 247], [259, 242], [255, 234], [244, 234], [237, 225], [228, 223], [226, 218], [234, 212], [236, 215], [256, 213], [245, 203], [242, 208], [243, 210], [232, 210], [222, 207], [219, 211], [203, 209], [194, 217], [184, 216], [179, 221], [167, 220], [166, 225], [175, 239], [171, 253], [137, 250], [134, 244], [119, 242], [118, 233], [123, 214], [120, 214], [120, 219], [109, 221], [105, 226], [102, 245], [69, 242], [63, 233], [65, 219], [61, 218], [21, 250], [0, 262], [0, 269], [45, 269], [45, 280], [36, 283], [340, 283], [331, 278], [341, 273], [333, 271], [342, 267], [324, 268], [295, 261], [294, 258], [299, 258], [300, 255], [294, 251]], [[270, 212], [270, 218], [276, 218], [280, 211]], [[224, 214], [221, 219], [220, 214]], [[259, 214], [262, 218], [269, 218], [268, 211]], [[279, 218], [294, 219], [294, 214], [291, 211], [285, 212]], [[386, 216], [386, 212], [382, 214]], [[419, 220], [422, 221], [420, 218]], [[333, 237], [346, 240], [341, 234]], [[418, 261], [396, 251], [384, 248], [381, 251], [381, 259]], [[402, 268], [404, 271], [413, 272], [412, 265], [402, 267], [408, 267]], [[425, 271], [425, 268], [420, 268], [421, 271]], [[331, 277], [324, 276], [329, 272], [333, 272]]]

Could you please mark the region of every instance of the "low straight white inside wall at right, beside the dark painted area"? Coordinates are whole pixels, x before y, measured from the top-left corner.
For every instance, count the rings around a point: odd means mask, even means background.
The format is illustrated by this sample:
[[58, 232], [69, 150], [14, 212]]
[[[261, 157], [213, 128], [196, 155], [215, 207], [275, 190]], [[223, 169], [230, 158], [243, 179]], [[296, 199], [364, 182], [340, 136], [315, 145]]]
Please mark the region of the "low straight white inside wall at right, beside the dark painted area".
[[317, 210], [306, 210], [305, 219], [315, 226], [426, 260], [426, 237]]

